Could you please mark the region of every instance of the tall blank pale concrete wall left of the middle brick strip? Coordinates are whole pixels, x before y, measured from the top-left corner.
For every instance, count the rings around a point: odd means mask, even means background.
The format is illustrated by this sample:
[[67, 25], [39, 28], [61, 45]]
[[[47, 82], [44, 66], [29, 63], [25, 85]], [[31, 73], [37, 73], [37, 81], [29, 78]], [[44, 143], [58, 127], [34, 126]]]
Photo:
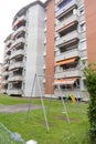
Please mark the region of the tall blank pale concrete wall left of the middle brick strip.
[[[43, 25], [44, 10], [41, 6], [35, 4], [28, 11], [28, 38], [26, 38], [26, 72], [25, 72], [25, 96], [31, 96], [33, 79], [35, 72], [42, 73], [42, 56], [44, 41]], [[35, 95], [35, 92], [33, 93]]]

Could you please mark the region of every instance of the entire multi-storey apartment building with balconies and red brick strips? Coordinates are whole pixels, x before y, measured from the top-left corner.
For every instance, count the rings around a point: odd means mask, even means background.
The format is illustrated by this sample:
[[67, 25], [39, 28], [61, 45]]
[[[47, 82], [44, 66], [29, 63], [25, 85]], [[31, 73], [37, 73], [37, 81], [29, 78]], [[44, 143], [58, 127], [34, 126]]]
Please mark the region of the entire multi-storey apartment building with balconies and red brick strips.
[[96, 60], [95, 13], [89, 0], [35, 1], [21, 9], [13, 19], [13, 33], [6, 40], [7, 93], [29, 96], [38, 72], [44, 76], [45, 96], [60, 96], [60, 85], [63, 96], [85, 97], [83, 70]]

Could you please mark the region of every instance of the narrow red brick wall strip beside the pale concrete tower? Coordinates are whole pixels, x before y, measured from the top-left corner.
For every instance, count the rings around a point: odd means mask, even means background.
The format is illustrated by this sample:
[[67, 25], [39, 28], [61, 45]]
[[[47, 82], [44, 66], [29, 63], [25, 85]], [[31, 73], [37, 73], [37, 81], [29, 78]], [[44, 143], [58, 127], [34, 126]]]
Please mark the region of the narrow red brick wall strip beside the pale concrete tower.
[[[45, 93], [53, 93], [54, 76], [54, 30], [55, 30], [55, 0], [50, 0], [46, 8], [46, 71]], [[51, 76], [51, 79], [50, 79]]]

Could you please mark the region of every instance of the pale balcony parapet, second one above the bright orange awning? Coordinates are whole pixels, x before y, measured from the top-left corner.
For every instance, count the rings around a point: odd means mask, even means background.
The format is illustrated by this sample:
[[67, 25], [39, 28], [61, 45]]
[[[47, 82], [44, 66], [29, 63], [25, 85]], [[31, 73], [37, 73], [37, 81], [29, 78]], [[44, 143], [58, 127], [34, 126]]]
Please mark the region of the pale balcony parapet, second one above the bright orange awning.
[[71, 33], [67, 33], [66, 35], [60, 38], [58, 40], [56, 40], [55, 45], [61, 45], [64, 43], [67, 43], [68, 41], [73, 40], [73, 39], [79, 39], [79, 34], [77, 31], [73, 31]]

